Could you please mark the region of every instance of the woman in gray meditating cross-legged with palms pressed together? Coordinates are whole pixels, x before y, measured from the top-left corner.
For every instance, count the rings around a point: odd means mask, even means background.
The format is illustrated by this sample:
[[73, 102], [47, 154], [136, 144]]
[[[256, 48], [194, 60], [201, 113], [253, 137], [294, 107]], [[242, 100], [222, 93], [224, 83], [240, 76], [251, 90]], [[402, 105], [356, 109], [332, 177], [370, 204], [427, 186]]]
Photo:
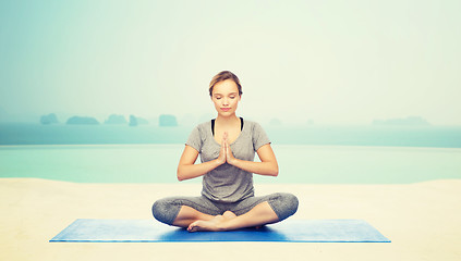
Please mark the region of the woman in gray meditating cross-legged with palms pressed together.
[[[253, 173], [277, 176], [279, 169], [260, 125], [235, 115], [239, 78], [220, 72], [209, 95], [218, 116], [192, 130], [178, 165], [179, 181], [203, 176], [202, 196], [160, 199], [153, 206], [155, 219], [196, 232], [260, 226], [294, 214], [298, 198], [291, 194], [254, 196]], [[254, 162], [255, 151], [260, 162]], [[194, 164], [198, 154], [202, 163]]]

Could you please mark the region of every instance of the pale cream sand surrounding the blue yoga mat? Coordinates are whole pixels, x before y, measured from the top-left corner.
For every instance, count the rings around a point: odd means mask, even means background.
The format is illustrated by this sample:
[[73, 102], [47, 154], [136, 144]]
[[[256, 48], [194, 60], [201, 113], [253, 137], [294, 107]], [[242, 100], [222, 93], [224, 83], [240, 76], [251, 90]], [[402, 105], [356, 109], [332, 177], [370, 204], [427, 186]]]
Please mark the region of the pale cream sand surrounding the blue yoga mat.
[[461, 260], [461, 179], [405, 185], [256, 185], [290, 191], [290, 219], [362, 219], [392, 243], [48, 243], [75, 219], [153, 219], [199, 184], [0, 178], [0, 260]]

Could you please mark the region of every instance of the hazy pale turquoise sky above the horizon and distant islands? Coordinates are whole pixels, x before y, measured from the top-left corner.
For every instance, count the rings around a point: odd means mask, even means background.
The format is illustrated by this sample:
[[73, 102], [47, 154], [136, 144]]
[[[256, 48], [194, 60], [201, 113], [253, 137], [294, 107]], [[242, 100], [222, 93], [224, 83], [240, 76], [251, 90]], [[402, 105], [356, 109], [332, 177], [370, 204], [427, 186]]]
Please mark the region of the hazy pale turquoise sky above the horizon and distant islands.
[[215, 114], [222, 70], [256, 121], [461, 125], [461, 1], [0, 0], [0, 110]]

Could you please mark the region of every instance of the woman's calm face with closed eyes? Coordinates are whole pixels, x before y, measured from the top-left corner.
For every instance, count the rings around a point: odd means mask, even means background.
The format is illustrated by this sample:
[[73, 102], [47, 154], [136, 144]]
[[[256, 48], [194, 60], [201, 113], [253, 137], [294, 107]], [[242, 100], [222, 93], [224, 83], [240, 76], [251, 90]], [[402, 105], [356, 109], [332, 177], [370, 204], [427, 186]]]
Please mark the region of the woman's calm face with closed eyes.
[[232, 79], [219, 82], [213, 88], [211, 100], [220, 116], [235, 114], [240, 99], [239, 88]]

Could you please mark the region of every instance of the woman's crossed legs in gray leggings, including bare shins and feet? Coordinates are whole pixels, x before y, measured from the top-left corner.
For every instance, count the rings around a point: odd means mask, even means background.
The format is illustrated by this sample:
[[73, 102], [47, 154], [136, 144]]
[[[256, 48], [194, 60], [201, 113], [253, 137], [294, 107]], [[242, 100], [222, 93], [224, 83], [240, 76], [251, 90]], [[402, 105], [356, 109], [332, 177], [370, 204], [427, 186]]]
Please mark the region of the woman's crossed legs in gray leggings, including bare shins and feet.
[[204, 196], [171, 197], [157, 200], [153, 206], [153, 214], [162, 223], [187, 227], [191, 232], [231, 231], [284, 220], [296, 212], [298, 203], [294, 195], [278, 192], [246, 198], [231, 206], [232, 212], [222, 213], [222, 208]]

